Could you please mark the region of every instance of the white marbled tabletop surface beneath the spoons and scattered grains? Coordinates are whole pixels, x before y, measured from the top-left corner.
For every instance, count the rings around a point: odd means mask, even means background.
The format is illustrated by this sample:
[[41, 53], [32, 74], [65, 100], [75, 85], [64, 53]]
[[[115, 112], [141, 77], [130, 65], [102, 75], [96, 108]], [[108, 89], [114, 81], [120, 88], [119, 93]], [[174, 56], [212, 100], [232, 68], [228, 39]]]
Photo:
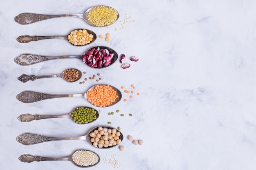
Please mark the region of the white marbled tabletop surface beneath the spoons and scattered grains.
[[[29, 25], [14, 22], [19, 13], [83, 13], [94, 5], [108, 5], [120, 13], [108, 28], [95, 28], [80, 18], [56, 18]], [[131, 16], [135, 20], [121, 28]], [[254, 170], [256, 166], [256, 2], [253, 0], [1, 0], [0, 3], [0, 167], [4, 170], [78, 170], [70, 161], [23, 163], [18, 157], [31, 154], [65, 157], [76, 149], [97, 152], [101, 162], [92, 170]], [[77, 28], [100, 34], [110, 33], [110, 41], [97, 39], [84, 47], [65, 40], [40, 40], [21, 44], [20, 35], [67, 35]], [[115, 31], [117, 28], [117, 31]], [[119, 62], [110, 68], [88, 68], [75, 59], [53, 60], [20, 66], [13, 60], [22, 53], [39, 55], [80, 55], [91, 46], [109, 46], [139, 62], [122, 70]], [[55, 74], [66, 68], [100, 73], [100, 82], [66, 83], [62, 79], [18, 81], [21, 74]], [[16, 99], [22, 91], [54, 94], [85, 92], [90, 86], [111, 84], [118, 88], [131, 84], [140, 96], [100, 108], [99, 119], [78, 125], [70, 119], [20, 122], [21, 114], [55, 115], [69, 113], [76, 106], [90, 106], [81, 98], [49, 99], [25, 104]], [[123, 98], [128, 95], [123, 92]], [[108, 112], [119, 109], [112, 116]], [[128, 113], [133, 116], [129, 117]], [[98, 125], [121, 126], [124, 151], [100, 150], [86, 141], [51, 141], [25, 146], [16, 141], [23, 132], [70, 137], [84, 135]], [[131, 144], [132, 135], [143, 139]], [[114, 155], [118, 168], [104, 163]]]

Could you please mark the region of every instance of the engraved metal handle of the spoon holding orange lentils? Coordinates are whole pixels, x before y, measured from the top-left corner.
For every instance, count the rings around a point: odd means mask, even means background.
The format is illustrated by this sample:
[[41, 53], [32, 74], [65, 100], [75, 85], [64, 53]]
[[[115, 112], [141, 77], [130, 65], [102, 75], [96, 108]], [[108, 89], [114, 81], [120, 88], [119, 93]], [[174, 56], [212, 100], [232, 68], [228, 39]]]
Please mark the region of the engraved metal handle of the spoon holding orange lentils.
[[53, 99], [59, 97], [84, 97], [85, 94], [74, 94], [74, 95], [53, 95], [53, 94], [46, 94], [46, 93], [38, 93], [34, 91], [23, 91], [17, 95], [17, 99], [23, 103], [33, 103], [38, 102], [40, 100], [45, 99]]

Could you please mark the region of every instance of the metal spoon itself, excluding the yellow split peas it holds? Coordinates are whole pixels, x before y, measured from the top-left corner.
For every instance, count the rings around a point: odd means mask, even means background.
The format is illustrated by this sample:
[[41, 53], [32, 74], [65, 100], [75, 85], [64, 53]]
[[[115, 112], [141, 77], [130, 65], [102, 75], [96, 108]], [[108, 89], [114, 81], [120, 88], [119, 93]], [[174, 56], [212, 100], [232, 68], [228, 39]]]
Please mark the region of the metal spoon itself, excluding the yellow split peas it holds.
[[[75, 30], [79, 30], [79, 29], [75, 29]], [[81, 30], [83, 30], [83, 29], [81, 29]], [[74, 30], [72, 30], [72, 31], [74, 31]], [[70, 31], [70, 33], [72, 31]], [[29, 35], [21, 35], [18, 38], [16, 38], [16, 40], [20, 43], [28, 43], [28, 42], [31, 42], [31, 41], [45, 40], [45, 39], [51, 39], [51, 38], [60, 38], [60, 39], [67, 40], [67, 42], [69, 42], [73, 46], [86, 46], [86, 45], [92, 44], [92, 42], [94, 42], [97, 39], [96, 33], [94, 33], [91, 30], [88, 30], [88, 29], [86, 29], [86, 31], [89, 34], [92, 34], [93, 38], [92, 38], [92, 41], [90, 41], [90, 43], [84, 44], [84, 45], [74, 45], [74, 44], [72, 44], [71, 42], [68, 41], [68, 35], [52, 35], [52, 36], [37, 36], [36, 35], [36, 36], [33, 36], [33, 37], [29, 36]]]

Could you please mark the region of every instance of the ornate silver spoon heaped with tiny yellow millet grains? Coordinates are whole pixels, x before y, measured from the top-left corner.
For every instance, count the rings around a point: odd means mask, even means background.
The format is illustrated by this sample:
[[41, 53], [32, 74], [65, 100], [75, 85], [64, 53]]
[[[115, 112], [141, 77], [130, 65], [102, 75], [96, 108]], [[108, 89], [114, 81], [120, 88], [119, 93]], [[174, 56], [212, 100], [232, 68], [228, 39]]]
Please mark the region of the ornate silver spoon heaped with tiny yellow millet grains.
[[61, 14], [61, 15], [45, 15], [37, 13], [20, 13], [14, 18], [15, 22], [19, 24], [31, 24], [34, 22], [47, 20], [50, 18], [59, 17], [77, 17], [82, 18], [87, 24], [95, 27], [109, 26], [117, 21], [119, 13], [112, 7], [98, 5], [90, 7], [81, 14]]

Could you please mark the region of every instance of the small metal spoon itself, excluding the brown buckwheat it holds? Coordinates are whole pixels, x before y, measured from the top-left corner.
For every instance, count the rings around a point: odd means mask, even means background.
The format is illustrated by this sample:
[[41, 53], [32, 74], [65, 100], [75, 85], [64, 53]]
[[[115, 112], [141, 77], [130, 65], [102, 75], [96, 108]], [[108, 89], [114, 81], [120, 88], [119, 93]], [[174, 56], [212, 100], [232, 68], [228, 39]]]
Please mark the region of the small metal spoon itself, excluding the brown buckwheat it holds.
[[[42, 79], [42, 78], [50, 78], [50, 77], [58, 77], [58, 78], [63, 78], [66, 82], [76, 82], [77, 80], [79, 80], [82, 77], [82, 72], [80, 70], [77, 70], [75, 68], [68, 68], [68, 69], [74, 69], [76, 71], [78, 71], [78, 77], [76, 79], [65, 79], [63, 77], [63, 74], [65, 73], [65, 71], [63, 71], [60, 74], [56, 74], [56, 75], [40, 75], [40, 76], [36, 76], [36, 75], [26, 75], [26, 74], [22, 74], [20, 77], [18, 77], [18, 80], [20, 80], [21, 82], [25, 83], [29, 80], [34, 81], [35, 79]], [[67, 70], [68, 70], [67, 69]]]

